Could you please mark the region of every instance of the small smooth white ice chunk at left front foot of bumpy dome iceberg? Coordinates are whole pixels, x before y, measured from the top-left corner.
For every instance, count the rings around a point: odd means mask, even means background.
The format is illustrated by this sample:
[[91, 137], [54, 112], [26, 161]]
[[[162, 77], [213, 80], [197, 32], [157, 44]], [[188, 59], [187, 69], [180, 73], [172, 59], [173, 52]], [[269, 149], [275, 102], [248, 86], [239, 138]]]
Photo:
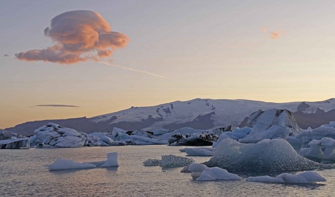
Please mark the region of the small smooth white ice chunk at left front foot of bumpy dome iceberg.
[[225, 169], [213, 167], [204, 170], [196, 180], [242, 180], [242, 177], [229, 173]]

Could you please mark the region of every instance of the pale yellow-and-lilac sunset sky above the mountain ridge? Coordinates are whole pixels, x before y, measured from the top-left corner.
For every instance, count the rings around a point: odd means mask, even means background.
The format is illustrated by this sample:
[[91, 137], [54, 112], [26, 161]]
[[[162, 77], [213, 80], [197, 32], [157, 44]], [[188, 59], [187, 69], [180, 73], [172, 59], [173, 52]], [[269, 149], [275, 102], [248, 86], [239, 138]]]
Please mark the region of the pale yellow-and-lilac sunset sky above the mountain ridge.
[[[66, 48], [51, 20], [76, 10], [99, 13], [103, 33], [119, 32], [123, 44], [70, 64], [15, 55]], [[0, 0], [0, 128], [195, 98], [335, 97], [334, 10], [334, 1], [306, 0]], [[70, 53], [92, 49], [80, 47]]]

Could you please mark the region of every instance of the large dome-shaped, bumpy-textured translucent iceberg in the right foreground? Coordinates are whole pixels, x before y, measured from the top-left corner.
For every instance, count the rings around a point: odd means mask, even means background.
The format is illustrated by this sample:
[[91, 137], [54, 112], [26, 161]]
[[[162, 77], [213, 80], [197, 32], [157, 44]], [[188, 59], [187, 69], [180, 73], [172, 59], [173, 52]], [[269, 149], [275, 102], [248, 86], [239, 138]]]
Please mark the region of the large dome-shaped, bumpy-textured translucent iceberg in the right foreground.
[[256, 144], [242, 144], [227, 138], [218, 144], [214, 156], [204, 164], [228, 171], [303, 171], [335, 167], [300, 156], [283, 139], [265, 139]]

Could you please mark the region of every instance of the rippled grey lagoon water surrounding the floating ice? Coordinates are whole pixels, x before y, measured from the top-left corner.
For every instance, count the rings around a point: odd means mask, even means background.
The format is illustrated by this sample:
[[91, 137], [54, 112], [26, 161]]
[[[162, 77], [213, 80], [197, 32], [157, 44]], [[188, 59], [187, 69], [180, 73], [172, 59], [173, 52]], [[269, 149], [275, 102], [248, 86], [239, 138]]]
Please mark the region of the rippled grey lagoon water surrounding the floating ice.
[[[85, 147], [58, 149], [0, 150], [0, 196], [333, 196], [335, 169], [318, 171], [323, 184], [273, 184], [243, 181], [192, 179], [182, 167], [145, 167], [148, 158], [161, 155], [185, 156], [184, 147], [165, 145]], [[109, 152], [119, 153], [118, 168], [48, 171], [57, 158], [79, 162], [101, 161]], [[192, 157], [204, 162], [209, 157]], [[237, 173], [247, 178], [250, 175]], [[279, 173], [278, 173], [279, 174]], [[267, 174], [276, 175], [276, 174]]]

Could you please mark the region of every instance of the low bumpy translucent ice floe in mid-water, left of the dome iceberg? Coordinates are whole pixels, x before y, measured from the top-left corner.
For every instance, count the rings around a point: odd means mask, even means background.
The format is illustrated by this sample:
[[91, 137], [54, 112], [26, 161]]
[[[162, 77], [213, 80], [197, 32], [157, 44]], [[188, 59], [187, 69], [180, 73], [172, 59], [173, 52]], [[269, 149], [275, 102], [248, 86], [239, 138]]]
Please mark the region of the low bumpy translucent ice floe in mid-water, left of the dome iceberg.
[[175, 155], [162, 155], [162, 159], [148, 159], [143, 162], [145, 166], [179, 167], [194, 163], [194, 159]]

